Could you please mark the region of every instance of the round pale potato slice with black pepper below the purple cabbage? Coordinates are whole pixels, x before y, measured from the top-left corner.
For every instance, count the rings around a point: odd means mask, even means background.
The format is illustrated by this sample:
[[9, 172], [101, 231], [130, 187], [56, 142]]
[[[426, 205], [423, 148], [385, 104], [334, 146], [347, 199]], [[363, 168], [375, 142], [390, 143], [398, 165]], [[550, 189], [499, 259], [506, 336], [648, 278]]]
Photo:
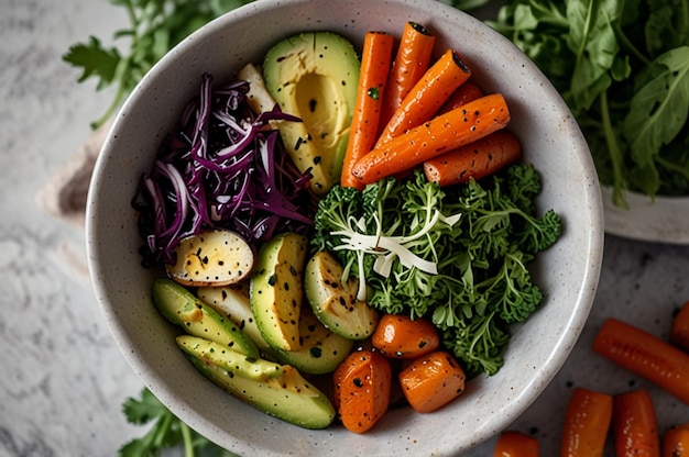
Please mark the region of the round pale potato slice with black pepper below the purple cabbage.
[[203, 232], [184, 238], [175, 248], [177, 261], [166, 265], [167, 275], [184, 286], [227, 286], [249, 277], [253, 247], [227, 230]]

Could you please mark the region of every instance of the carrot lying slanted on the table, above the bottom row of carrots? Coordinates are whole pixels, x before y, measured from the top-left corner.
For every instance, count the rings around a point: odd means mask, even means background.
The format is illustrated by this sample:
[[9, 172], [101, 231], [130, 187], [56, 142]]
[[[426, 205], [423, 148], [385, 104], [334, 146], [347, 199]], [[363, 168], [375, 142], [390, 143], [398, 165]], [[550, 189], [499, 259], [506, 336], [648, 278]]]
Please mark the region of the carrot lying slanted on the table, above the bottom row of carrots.
[[611, 317], [599, 330], [593, 350], [689, 404], [689, 355], [681, 349]]

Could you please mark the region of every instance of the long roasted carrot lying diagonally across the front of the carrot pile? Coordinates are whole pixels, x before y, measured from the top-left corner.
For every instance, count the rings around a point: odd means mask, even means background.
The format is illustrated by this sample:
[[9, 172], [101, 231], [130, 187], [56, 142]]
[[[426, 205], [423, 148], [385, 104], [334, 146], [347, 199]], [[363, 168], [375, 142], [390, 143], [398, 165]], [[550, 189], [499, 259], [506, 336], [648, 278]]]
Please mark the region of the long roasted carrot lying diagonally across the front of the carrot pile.
[[481, 97], [371, 151], [354, 164], [352, 174], [363, 185], [375, 182], [475, 142], [508, 122], [510, 110], [502, 94]]

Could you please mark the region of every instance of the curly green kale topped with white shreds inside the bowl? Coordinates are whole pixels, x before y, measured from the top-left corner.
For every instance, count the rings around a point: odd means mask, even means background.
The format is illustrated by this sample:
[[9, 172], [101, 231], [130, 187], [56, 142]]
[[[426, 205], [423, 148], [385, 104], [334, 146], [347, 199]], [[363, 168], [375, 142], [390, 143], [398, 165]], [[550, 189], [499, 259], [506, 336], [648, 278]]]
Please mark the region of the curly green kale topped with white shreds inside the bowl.
[[[493, 375], [507, 325], [523, 322], [543, 299], [528, 264], [560, 234], [553, 210], [536, 216], [539, 191], [538, 174], [523, 164], [448, 188], [418, 170], [362, 192], [335, 187], [319, 202], [311, 247], [333, 252], [344, 275], [365, 283], [372, 306], [431, 319], [470, 376]], [[369, 246], [371, 236], [378, 247]]]

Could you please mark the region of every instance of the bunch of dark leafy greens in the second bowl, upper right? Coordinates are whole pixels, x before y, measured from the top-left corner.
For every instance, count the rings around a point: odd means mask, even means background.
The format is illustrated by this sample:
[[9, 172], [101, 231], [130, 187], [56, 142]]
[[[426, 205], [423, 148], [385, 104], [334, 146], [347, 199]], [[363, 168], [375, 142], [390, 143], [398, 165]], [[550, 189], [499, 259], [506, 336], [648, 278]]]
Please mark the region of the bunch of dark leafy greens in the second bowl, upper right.
[[562, 94], [615, 204], [689, 194], [686, 0], [511, 0], [488, 23]]

